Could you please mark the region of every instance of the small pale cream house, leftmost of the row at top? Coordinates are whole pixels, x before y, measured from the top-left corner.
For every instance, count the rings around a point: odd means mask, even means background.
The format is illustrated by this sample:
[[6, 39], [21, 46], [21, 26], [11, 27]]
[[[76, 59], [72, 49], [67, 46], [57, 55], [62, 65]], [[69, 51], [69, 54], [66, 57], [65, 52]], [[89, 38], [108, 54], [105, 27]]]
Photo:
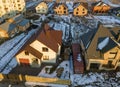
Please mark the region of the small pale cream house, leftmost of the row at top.
[[39, 14], [47, 14], [48, 13], [48, 6], [45, 2], [39, 3], [36, 7], [36, 13]]

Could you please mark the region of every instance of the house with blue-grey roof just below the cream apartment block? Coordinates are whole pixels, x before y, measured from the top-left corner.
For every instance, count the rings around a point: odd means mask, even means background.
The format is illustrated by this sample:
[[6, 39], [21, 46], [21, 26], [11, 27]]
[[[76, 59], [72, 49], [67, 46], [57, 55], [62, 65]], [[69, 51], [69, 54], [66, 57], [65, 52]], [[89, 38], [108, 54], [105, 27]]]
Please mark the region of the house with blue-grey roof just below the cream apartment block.
[[25, 31], [30, 27], [30, 22], [28, 19], [23, 18], [23, 15], [16, 15], [13, 18], [10, 18], [8, 22], [15, 24], [19, 31]]

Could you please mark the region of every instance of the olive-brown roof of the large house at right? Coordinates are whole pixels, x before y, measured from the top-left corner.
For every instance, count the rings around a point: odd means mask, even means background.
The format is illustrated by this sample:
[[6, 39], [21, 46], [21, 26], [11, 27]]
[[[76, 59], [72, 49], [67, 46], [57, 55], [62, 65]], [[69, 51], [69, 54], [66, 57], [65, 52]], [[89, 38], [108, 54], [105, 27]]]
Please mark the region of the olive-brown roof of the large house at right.
[[87, 58], [101, 58], [99, 51], [97, 51], [97, 42], [101, 37], [113, 37], [115, 38], [120, 27], [107, 28], [103, 25], [100, 25], [96, 34], [94, 35], [88, 49], [87, 49]]

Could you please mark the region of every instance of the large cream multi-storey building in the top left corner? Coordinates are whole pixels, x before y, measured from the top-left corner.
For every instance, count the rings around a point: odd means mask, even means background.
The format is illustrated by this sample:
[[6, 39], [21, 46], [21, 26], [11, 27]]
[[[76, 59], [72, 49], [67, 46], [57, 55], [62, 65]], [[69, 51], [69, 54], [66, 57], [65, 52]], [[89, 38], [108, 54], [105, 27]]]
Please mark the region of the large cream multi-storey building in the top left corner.
[[25, 12], [24, 0], [0, 0], [0, 17], [8, 19]]

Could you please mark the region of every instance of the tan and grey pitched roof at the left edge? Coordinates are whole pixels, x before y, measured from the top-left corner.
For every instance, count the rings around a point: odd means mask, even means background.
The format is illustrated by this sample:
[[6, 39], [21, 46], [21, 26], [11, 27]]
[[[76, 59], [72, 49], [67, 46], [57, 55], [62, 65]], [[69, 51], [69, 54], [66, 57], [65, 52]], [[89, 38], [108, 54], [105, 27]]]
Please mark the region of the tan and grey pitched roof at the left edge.
[[9, 23], [9, 22], [5, 22], [5, 23], [0, 25], [0, 28], [7, 31], [7, 32], [10, 32], [16, 28], [16, 25]]

